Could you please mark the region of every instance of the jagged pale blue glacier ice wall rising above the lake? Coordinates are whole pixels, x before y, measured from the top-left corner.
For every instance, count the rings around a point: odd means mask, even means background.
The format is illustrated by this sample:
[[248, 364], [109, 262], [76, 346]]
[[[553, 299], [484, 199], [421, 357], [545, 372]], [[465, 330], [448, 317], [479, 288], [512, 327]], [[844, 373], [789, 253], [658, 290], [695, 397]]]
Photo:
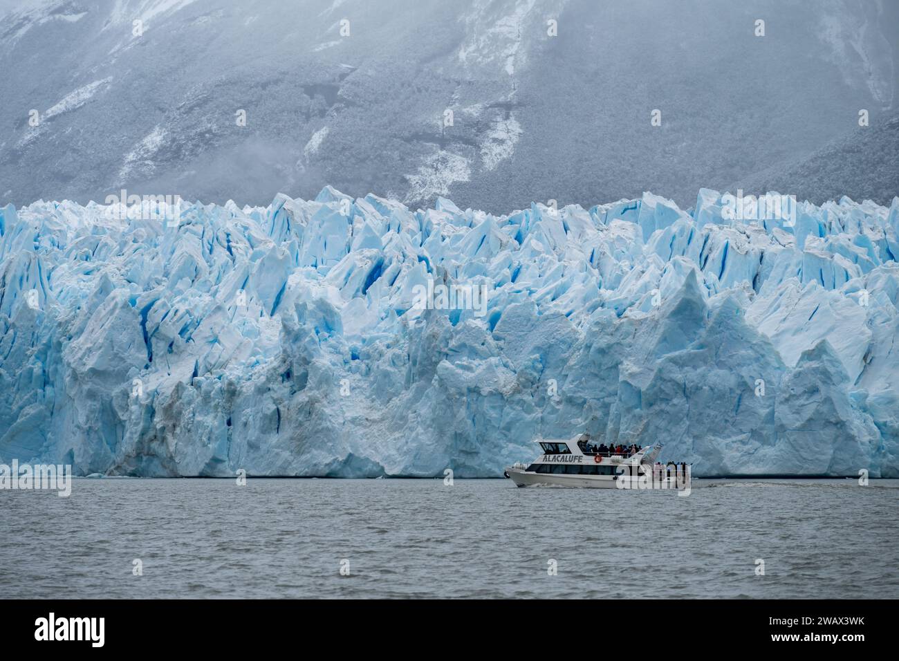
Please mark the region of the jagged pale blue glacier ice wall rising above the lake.
[[586, 431], [699, 476], [899, 476], [899, 198], [726, 207], [7, 206], [0, 461], [486, 477]]

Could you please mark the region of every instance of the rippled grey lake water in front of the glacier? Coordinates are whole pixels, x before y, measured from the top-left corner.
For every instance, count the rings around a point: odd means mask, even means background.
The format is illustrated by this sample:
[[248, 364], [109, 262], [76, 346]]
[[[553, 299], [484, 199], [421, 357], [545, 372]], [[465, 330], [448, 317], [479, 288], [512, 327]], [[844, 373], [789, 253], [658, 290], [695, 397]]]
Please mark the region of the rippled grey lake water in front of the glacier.
[[694, 480], [684, 497], [509, 480], [77, 479], [67, 498], [0, 491], [0, 588], [62, 598], [896, 598], [897, 505], [899, 480]]

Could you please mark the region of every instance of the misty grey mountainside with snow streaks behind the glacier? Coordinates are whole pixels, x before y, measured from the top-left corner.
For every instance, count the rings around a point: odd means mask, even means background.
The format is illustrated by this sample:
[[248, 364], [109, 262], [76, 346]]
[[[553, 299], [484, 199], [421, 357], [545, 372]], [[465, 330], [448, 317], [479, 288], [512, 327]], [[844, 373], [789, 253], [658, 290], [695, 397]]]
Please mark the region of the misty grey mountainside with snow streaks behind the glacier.
[[[0, 203], [126, 188], [268, 204], [325, 184], [489, 212], [648, 190], [686, 208], [744, 180], [816, 194], [817, 165], [753, 177], [851, 136], [859, 109], [878, 146], [897, 24], [896, 3], [860, 0], [4, 1]], [[866, 182], [899, 181], [897, 160], [869, 153], [824, 159], [826, 195], [889, 204]]]

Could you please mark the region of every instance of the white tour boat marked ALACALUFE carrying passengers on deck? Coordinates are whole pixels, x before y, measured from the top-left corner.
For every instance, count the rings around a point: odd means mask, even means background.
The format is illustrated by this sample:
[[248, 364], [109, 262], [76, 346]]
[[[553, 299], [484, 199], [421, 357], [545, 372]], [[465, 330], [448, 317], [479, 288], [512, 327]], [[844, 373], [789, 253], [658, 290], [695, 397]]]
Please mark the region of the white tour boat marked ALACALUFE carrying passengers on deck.
[[516, 463], [505, 469], [518, 487], [550, 485], [559, 487], [614, 488], [623, 474], [651, 474], [660, 443], [630, 454], [616, 453], [590, 443], [590, 434], [582, 433], [571, 441], [537, 441], [543, 454], [531, 464]]

